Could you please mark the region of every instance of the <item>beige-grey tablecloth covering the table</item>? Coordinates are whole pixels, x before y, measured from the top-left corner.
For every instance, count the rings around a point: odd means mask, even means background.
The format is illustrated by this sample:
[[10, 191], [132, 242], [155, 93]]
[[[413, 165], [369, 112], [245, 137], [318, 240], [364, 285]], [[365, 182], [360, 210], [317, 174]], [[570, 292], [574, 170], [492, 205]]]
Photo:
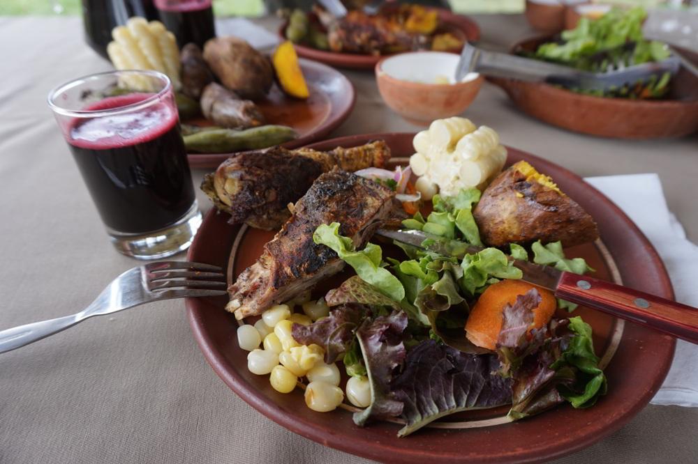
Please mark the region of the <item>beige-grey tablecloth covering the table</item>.
[[[476, 19], [491, 47], [532, 32], [521, 15]], [[79, 18], [0, 17], [0, 44], [3, 329], [73, 314], [138, 263], [108, 242], [45, 100], [53, 86], [110, 65], [84, 45]], [[334, 135], [419, 130], [383, 105], [371, 72], [346, 75], [357, 106]], [[521, 114], [489, 84], [466, 116], [581, 176], [659, 173], [669, 209], [698, 239], [697, 135], [574, 134]], [[204, 173], [195, 170], [194, 182]], [[1, 355], [0, 392], [0, 463], [368, 462], [281, 428], [232, 393], [195, 343], [181, 300], [90, 319]], [[559, 462], [690, 462], [697, 423], [698, 409], [648, 406]]]

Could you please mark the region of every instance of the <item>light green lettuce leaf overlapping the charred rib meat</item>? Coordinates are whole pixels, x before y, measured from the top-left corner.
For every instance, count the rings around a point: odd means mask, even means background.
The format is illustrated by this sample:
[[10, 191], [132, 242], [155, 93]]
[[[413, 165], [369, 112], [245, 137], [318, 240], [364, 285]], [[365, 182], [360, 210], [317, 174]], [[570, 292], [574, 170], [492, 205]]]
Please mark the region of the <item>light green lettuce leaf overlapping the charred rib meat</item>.
[[341, 260], [354, 268], [362, 280], [376, 286], [393, 300], [399, 302], [405, 297], [405, 289], [399, 279], [382, 267], [383, 251], [378, 245], [367, 243], [364, 249], [353, 251], [352, 240], [339, 235], [338, 222], [319, 226], [313, 233], [313, 242], [332, 248]]

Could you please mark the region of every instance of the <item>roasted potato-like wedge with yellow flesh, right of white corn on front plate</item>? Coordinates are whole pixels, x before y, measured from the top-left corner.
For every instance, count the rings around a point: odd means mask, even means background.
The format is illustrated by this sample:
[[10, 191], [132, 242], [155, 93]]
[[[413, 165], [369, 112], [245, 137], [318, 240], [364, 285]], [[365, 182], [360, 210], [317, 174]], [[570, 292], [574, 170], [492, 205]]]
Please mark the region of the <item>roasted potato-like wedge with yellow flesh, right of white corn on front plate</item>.
[[491, 247], [560, 240], [564, 247], [592, 242], [599, 229], [551, 178], [519, 161], [500, 173], [473, 210], [482, 241]]

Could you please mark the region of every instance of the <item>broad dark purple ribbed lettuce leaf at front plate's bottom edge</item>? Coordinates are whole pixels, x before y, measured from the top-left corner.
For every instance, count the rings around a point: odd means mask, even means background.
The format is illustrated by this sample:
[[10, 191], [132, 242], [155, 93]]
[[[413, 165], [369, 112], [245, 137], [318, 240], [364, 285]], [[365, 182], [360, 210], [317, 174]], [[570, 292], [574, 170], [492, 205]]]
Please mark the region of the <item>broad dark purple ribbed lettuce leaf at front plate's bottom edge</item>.
[[454, 412], [510, 403], [512, 380], [498, 376], [498, 367], [496, 355], [461, 353], [431, 339], [420, 342], [391, 384], [394, 398], [404, 405], [406, 425], [398, 436]]

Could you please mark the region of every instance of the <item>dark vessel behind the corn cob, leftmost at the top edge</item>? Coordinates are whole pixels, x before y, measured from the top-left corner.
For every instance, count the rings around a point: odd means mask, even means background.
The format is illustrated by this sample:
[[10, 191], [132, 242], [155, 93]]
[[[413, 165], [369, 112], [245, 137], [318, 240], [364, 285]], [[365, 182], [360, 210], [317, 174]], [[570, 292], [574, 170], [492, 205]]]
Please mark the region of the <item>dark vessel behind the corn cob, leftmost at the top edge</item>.
[[159, 19], [153, 0], [82, 0], [87, 45], [108, 60], [107, 45], [112, 41], [112, 29], [126, 24], [132, 16], [148, 21]]

